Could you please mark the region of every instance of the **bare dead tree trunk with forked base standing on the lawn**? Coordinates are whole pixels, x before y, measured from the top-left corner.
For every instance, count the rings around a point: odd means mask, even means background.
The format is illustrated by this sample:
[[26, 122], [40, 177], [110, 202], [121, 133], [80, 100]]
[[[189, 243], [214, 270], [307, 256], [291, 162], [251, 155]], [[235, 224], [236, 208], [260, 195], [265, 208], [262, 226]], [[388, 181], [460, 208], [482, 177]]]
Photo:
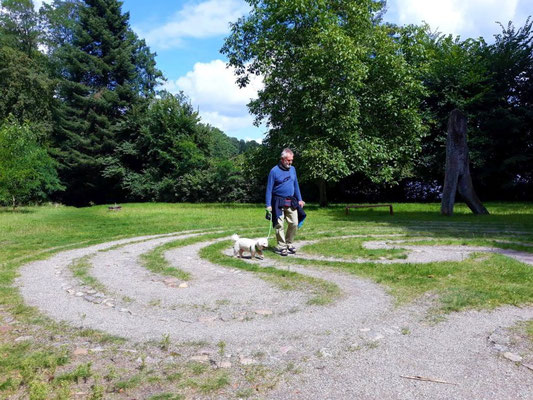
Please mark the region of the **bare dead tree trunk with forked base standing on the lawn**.
[[457, 190], [474, 214], [488, 214], [481, 204], [472, 185], [470, 158], [466, 145], [466, 117], [453, 110], [448, 119], [448, 138], [446, 141], [446, 174], [440, 212], [452, 215]]

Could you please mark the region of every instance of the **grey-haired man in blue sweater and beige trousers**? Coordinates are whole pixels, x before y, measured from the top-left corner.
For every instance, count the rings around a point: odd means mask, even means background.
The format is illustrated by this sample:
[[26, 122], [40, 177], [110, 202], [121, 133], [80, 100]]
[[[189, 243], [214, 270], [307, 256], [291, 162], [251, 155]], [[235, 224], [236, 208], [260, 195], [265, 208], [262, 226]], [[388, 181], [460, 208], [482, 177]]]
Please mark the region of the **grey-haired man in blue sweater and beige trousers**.
[[[272, 225], [276, 230], [278, 245], [276, 252], [282, 256], [296, 253], [294, 236], [305, 218], [296, 169], [292, 166], [294, 153], [291, 149], [281, 152], [278, 165], [270, 170], [266, 189], [266, 209], [271, 213]], [[283, 224], [287, 220], [287, 233]]]

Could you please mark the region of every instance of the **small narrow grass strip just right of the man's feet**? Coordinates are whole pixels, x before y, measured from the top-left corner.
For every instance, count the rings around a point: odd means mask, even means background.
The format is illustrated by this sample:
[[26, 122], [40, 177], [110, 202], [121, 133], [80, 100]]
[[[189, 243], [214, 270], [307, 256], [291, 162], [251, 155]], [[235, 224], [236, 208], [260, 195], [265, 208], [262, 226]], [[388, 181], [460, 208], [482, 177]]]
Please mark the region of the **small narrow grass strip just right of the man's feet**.
[[407, 252], [402, 249], [365, 249], [363, 243], [367, 241], [369, 241], [368, 238], [325, 239], [303, 246], [302, 251], [348, 259], [358, 257], [369, 260], [407, 258]]

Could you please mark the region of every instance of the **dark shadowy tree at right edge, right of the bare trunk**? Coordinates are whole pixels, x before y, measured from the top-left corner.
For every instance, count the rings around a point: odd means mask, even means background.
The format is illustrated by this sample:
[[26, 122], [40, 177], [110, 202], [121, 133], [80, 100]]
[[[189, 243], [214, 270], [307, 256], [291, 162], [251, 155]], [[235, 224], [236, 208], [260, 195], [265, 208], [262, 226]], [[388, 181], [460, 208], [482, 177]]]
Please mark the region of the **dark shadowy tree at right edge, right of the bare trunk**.
[[[469, 109], [473, 177], [491, 198], [533, 199], [533, 21], [501, 26], [484, 49], [487, 85], [476, 109]], [[475, 158], [474, 158], [475, 157]]]

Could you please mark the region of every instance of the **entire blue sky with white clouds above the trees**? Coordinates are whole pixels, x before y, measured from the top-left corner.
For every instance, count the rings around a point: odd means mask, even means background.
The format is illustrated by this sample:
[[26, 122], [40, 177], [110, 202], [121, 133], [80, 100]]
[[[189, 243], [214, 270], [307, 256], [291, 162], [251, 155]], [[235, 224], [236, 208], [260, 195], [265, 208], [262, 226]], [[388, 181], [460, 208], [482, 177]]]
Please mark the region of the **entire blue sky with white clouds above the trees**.
[[[34, 4], [43, 1], [50, 0]], [[246, 107], [261, 89], [261, 79], [239, 89], [219, 53], [230, 22], [249, 12], [244, 0], [123, 0], [122, 11], [129, 12], [132, 29], [157, 54], [167, 78], [164, 89], [183, 91], [201, 121], [228, 136], [262, 140], [267, 128], [255, 127]], [[521, 27], [531, 14], [533, 0], [388, 0], [384, 19], [398, 25], [426, 22], [433, 31], [490, 43], [501, 32], [497, 22]]]

